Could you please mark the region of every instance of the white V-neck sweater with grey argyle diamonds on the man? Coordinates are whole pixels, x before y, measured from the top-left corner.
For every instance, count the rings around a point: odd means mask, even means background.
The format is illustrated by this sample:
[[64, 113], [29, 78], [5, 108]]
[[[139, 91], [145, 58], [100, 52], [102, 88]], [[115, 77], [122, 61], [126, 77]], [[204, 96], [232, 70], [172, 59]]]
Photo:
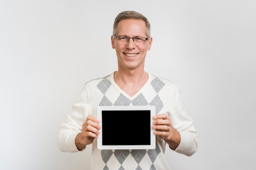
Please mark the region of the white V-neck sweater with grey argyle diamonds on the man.
[[[180, 132], [181, 142], [175, 152], [193, 155], [197, 150], [198, 139], [193, 121], [186, 115], [179, 89], [171, 81], [157, 78], [152, 74], [148, 76], [146, 84], [132, 97], [117, 86], [114, 72], [86, 83], [73, 104], [72, 113], [68, 114], [67, 120], [59, 128], [59, 149], [63, 152], [79, 151], [74, 142], [75, 137], [81, 132], [82, 124], [88, 115], [97, 116], [98, 106], [153, 105], [156, 114], [165, 113], [170, 116], [173, 128]], [[166, 161], [164, 157], [165, 146], [166, 142], [157, 136], [155, 149], [98, 150], [97, 139], [94, 139], [90, 169], [168, 170], [168, 162], [171, 160]]]

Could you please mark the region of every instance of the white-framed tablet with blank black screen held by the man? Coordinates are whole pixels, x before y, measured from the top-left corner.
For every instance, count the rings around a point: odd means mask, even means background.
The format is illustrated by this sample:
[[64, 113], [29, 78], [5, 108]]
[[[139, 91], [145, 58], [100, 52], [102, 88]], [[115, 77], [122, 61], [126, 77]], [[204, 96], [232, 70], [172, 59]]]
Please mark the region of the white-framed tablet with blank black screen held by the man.
[[99, 106], [101, 129], [97, 148], [155, 149], [155, 106]]

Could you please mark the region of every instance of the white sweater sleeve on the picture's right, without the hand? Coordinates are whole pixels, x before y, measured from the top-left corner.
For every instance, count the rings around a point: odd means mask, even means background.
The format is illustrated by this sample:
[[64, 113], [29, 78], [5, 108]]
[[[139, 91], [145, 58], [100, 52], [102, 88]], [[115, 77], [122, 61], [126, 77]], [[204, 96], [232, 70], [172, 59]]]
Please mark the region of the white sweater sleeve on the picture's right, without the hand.
[[193, 120], [186, 115], [180, 90], [176, 87], [171, 113], [173, 128], [180, 132], [181, 142], [175, 152], [191, 156], [197, 151], [198, 137]]

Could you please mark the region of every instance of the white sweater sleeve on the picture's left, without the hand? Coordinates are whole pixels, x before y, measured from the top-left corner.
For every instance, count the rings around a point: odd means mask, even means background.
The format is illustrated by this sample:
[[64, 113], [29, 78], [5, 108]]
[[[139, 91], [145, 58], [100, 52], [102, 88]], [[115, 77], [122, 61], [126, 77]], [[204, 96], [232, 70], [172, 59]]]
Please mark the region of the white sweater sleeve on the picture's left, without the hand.
[[88, 111], [86, 110], [86, 96], [87, 93], [85, 87], [83, 87], [79, 98], [73, 104], [72, 113], [67, 115], [67, 119], [58, 129], [57, 145], [62, 152], [79, 151], [76, 148], [75, 138], [76, 135], [81, 132], [83, 122], [85, 122], [88, 116]]

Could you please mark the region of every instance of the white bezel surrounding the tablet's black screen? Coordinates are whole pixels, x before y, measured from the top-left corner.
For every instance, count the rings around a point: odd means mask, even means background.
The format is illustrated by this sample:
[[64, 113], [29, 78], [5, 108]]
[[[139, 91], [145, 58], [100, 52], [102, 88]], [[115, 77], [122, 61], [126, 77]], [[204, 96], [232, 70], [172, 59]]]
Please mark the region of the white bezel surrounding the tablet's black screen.
[[[102, 145], [102, 111], [124, 111], [124, 110], [150, 110], [150, 117], [152, 121], [150, 122], [150, 145]], [[155, 106], [99, 106], [97, 107], [97, 119], [100, 121], [101, 129], [99, 130], [100, 134], [97, 138], [97, 148], [100, 150], [104, 149], [155, 149], [155, 134], [154, 129], [152, 129], [153, 125], [153, 116], [155, 115]], [[114, 118], [115, 119], [115, 118]], [[132, 124], [132, 122], [131, 122]]]

